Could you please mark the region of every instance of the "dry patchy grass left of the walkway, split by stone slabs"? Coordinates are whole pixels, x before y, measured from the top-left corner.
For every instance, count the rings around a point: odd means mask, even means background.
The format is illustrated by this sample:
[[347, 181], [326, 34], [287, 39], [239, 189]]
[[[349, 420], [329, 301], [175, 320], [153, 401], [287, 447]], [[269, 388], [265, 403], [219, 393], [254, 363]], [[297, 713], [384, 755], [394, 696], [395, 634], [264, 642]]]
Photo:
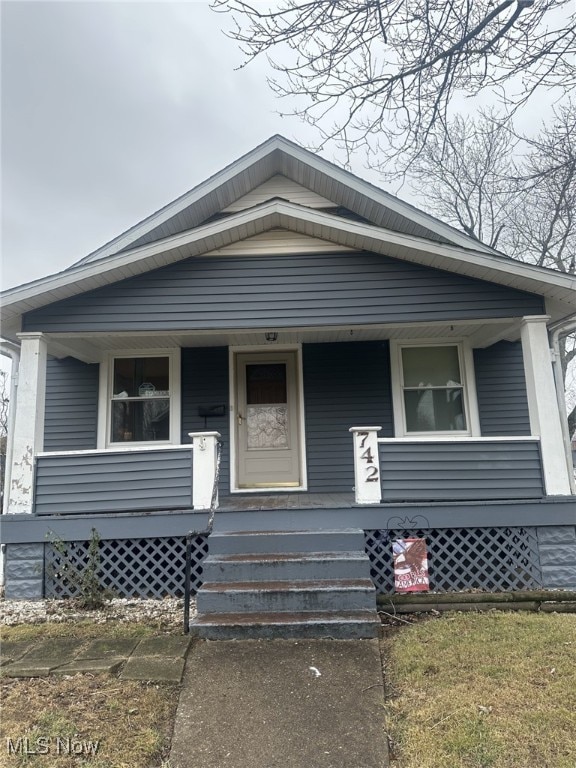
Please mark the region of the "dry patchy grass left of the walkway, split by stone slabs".
[[[25, 640], [74, 636], [89, 640], [156, 632], [154, 627], [144, 625], [43, 624], [10, 627], [3, 630], [2, 637]], [[0, 686], [1, 768], [159, 768], [167, 758], [178, 703], [177, 685], [85, 674], [3, 678]], [[27, 741], [19, 745], [19, 738]], [[74, 754], [74, 749], [81, 750], [82, 742], [99, 742], [96, 754]], [[31, 754], [42, 750], [49, 753]]]

